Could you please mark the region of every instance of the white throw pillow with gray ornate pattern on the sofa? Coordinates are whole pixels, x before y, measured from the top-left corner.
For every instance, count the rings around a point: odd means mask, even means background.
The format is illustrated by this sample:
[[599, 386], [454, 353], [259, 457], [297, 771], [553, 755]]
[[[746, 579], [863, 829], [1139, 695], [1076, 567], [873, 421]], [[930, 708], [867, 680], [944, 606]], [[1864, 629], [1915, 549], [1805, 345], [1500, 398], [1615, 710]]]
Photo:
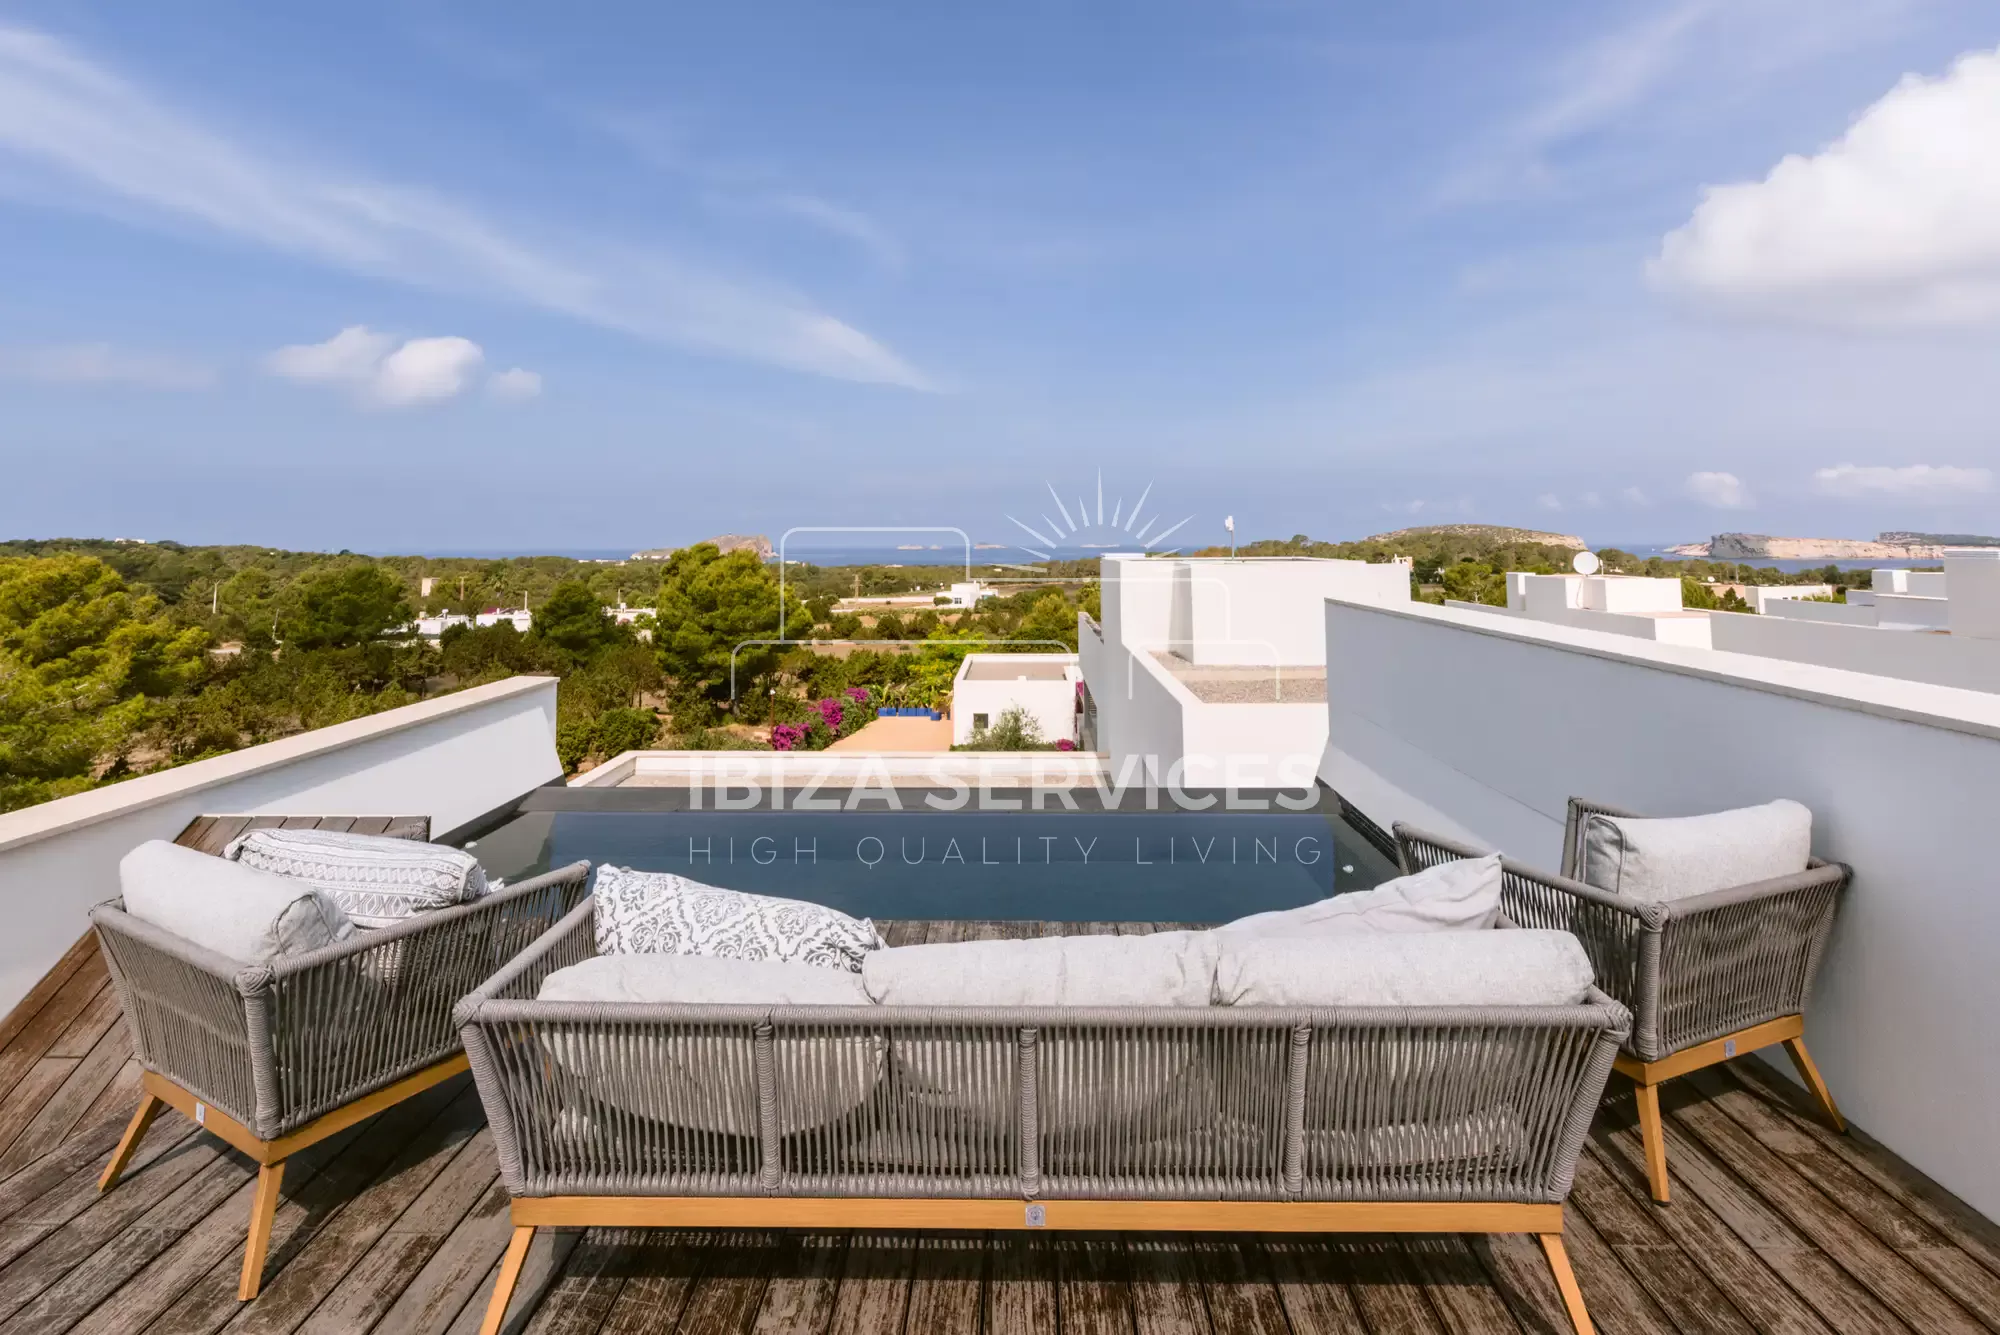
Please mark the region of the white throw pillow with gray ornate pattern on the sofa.
[[598, 867], [600, 955], [796, 959], [860, 973], [884, 941], [866, 917], [822, 903], [748, 895], [672, 871]]

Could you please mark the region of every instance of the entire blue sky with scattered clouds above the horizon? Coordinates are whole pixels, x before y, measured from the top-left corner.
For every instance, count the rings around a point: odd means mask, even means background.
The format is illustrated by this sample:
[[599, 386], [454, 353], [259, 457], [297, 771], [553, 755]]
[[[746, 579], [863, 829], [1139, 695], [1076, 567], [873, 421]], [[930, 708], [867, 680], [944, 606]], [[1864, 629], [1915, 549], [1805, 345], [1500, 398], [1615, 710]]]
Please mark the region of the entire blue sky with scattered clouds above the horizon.
[[12, 4], [0, 536], [2000, 532], [1990, 0]]

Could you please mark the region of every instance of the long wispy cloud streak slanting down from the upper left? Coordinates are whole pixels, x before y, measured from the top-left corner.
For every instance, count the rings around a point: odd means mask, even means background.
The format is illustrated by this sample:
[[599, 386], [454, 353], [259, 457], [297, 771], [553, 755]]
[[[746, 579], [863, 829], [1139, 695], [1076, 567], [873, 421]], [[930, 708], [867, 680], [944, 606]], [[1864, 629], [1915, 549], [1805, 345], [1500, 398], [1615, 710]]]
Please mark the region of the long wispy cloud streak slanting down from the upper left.
[[[36, 198], [198, 224], [358, 274], [496, 296], [788, 370], [928, 388], [890, 348], [778, 288], [674, 254], [518, 236], [428, 190], [260, 156], [60, 38], [0, 26], [0, 160]], [[4, 180], [4, 178], [0, 178]]]

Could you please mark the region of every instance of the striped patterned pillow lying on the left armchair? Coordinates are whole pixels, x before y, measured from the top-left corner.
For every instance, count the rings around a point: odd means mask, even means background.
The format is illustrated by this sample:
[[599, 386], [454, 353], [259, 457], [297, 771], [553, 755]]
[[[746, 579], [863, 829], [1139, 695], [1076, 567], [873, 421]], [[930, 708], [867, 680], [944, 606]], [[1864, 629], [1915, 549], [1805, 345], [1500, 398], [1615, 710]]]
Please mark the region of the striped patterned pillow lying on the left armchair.
[[222, 855], [274, 871], [338, 903], [356, 927], [392, 927], [486, 893], [478, 857], [440, 843], [332, 829], [252, 829]]

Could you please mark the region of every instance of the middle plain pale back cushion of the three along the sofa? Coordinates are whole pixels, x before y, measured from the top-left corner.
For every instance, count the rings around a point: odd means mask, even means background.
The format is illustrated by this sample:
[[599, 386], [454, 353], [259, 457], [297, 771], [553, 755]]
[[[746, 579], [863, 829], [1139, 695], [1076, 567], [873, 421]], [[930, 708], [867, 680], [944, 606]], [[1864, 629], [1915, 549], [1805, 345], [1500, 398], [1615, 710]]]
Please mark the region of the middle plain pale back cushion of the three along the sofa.
[[870, 951], [882, 1005], [1208, 1005], [1216, 933], [942, 941]]

